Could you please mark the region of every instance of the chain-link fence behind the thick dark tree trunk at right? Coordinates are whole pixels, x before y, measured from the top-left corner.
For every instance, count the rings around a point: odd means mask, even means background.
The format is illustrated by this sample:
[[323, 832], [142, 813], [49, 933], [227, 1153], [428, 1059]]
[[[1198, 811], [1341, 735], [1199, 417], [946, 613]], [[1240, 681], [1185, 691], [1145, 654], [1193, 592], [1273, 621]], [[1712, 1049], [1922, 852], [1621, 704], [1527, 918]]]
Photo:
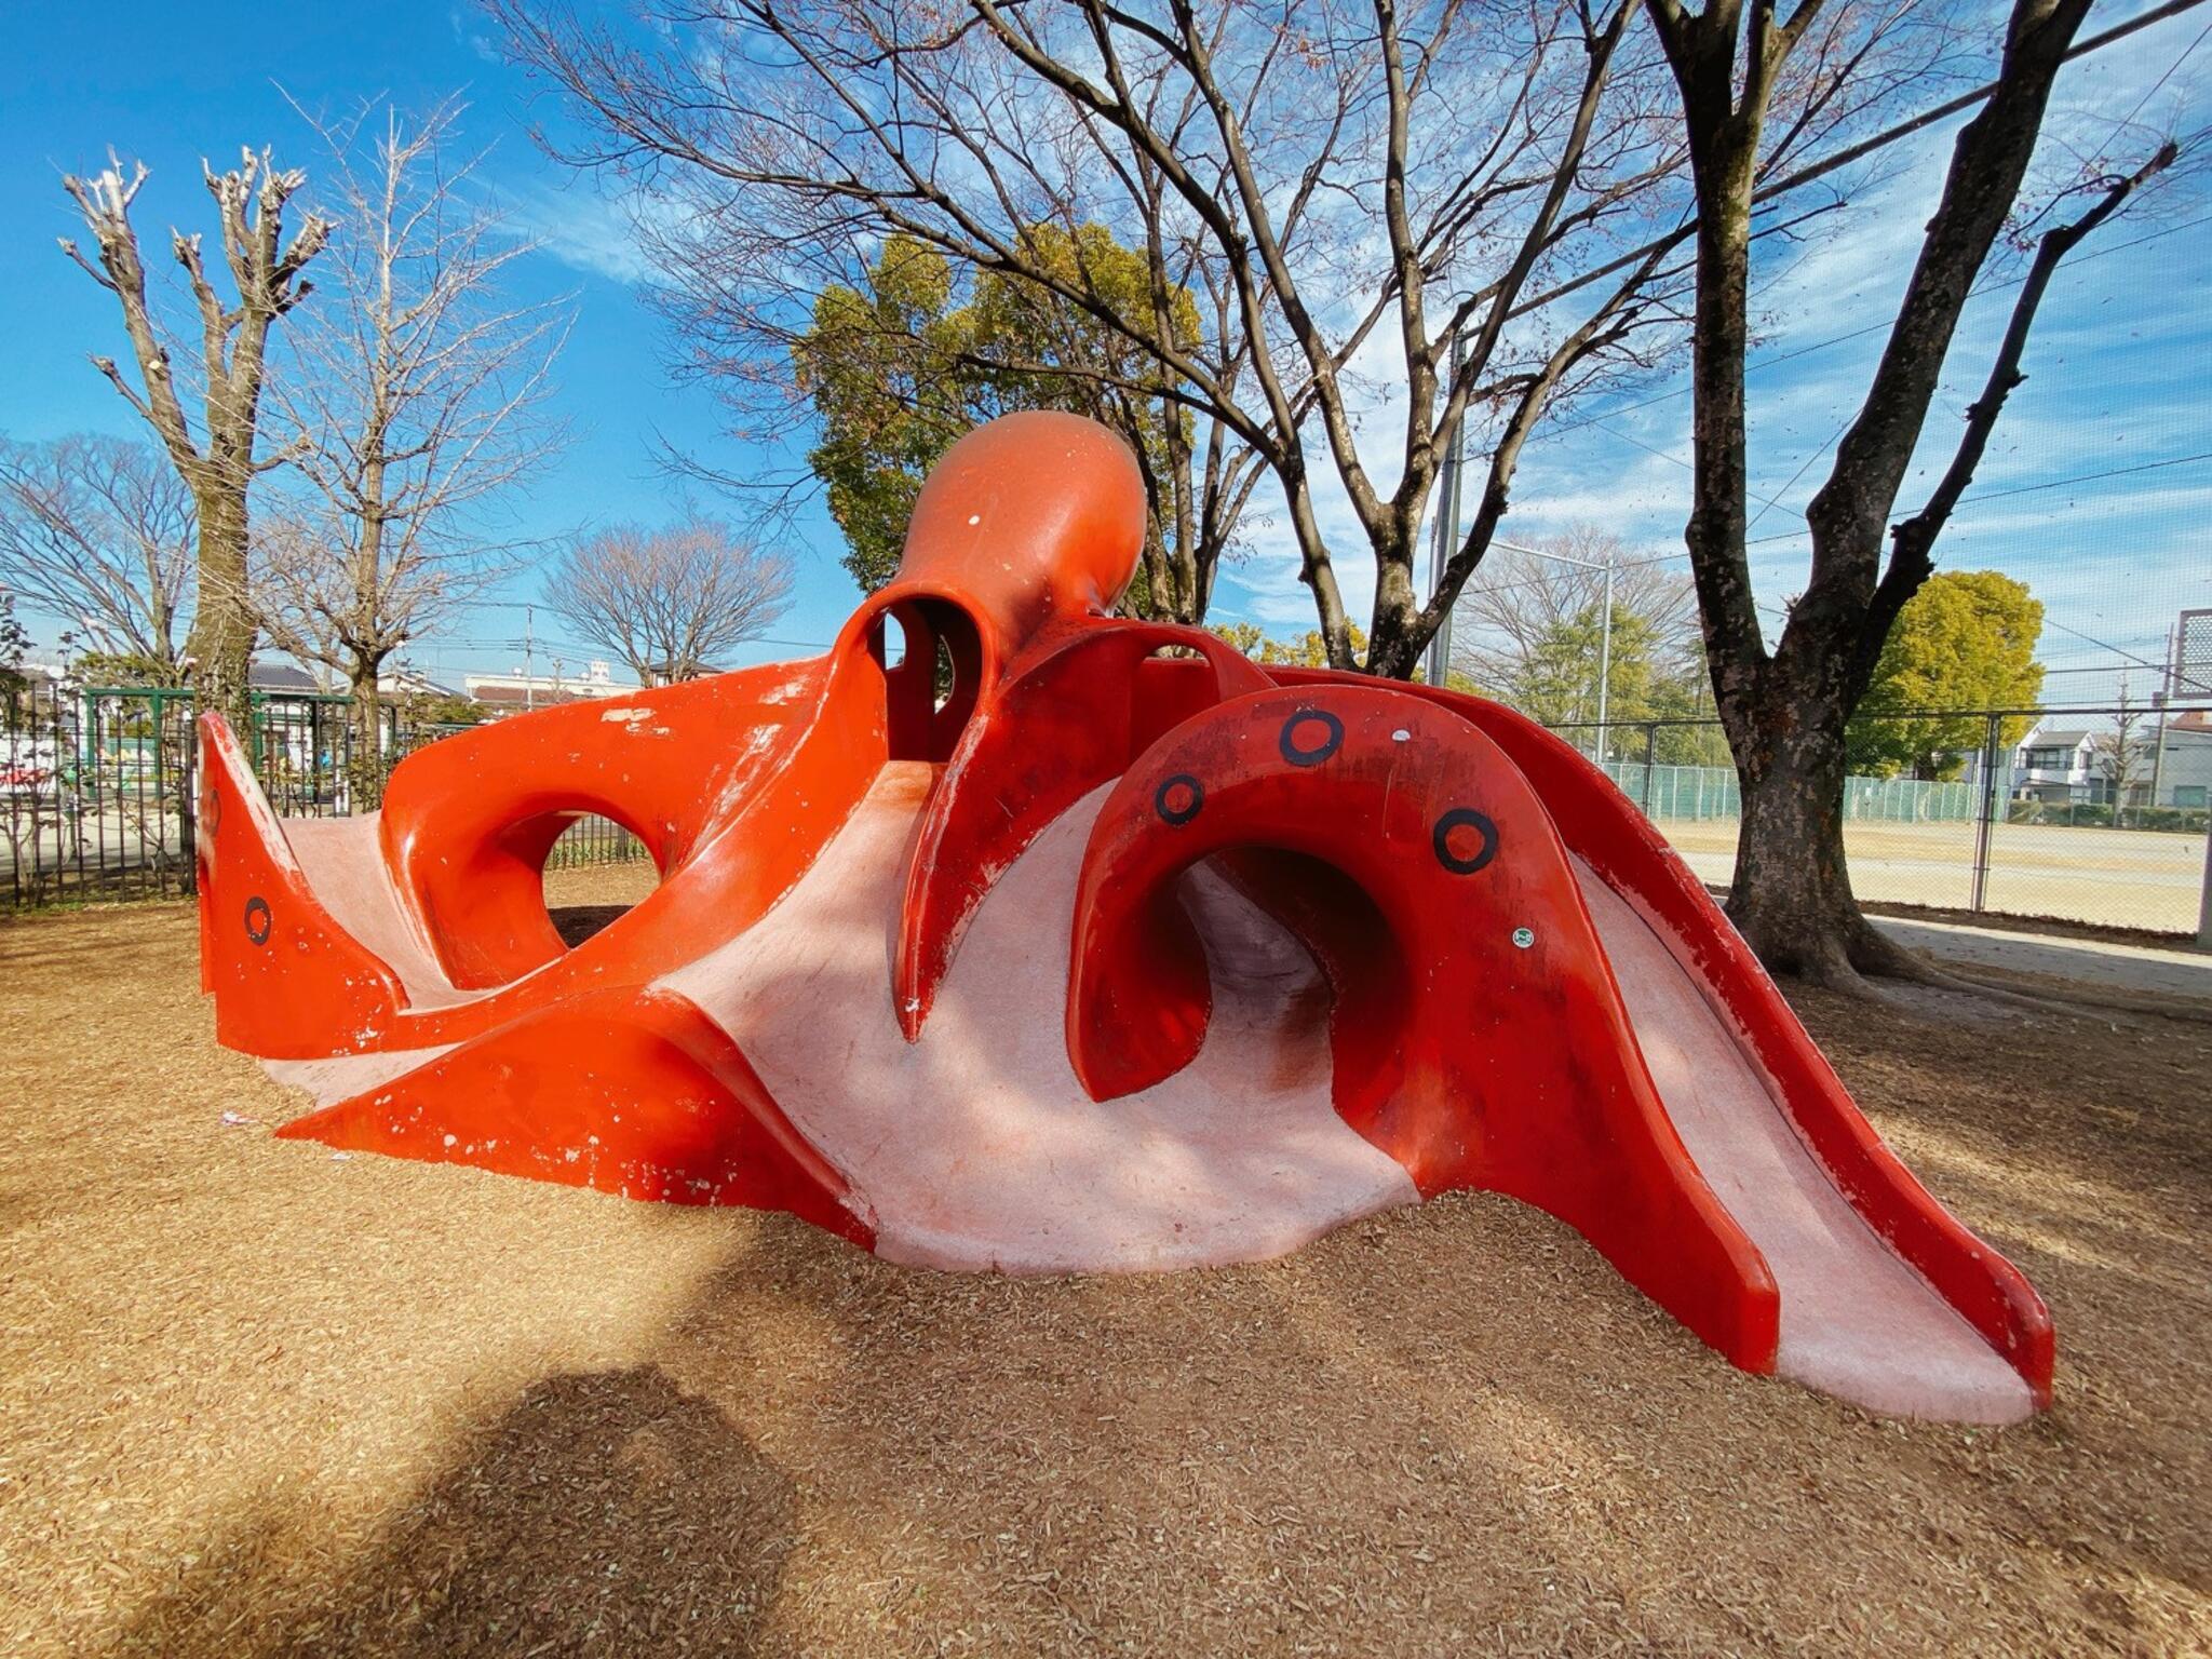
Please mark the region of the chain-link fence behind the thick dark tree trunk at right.
[[[2199, 931], [2205, 708], [1885, 710], [1876, 721], [1851, 748], [1913, 754], [1927, 776], [1900, 768], [1847, 781], [1843, 843], [1863, 900]], [[1599, 761], [1708, 885], [1730, 883], [1741, 796], [1717, 721], [1553, 730]]]

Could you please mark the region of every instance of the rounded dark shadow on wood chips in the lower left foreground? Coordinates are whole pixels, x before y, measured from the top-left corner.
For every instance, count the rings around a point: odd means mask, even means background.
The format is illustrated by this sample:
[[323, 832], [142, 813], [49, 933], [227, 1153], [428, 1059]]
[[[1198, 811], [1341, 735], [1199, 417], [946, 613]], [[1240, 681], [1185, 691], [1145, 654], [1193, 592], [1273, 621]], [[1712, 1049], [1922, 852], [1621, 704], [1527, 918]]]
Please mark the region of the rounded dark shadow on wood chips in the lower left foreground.
[[[292, 1517], [296, 1520], [296, 1517]], [[531, 1385], [343, 1577], [270, 1619], [239, 1564], [283, 1524], [210, 1551], [142, 1608], [119, 1652], [752, 1652], [796, 1535], [792, 1480], [653, 1365]]]

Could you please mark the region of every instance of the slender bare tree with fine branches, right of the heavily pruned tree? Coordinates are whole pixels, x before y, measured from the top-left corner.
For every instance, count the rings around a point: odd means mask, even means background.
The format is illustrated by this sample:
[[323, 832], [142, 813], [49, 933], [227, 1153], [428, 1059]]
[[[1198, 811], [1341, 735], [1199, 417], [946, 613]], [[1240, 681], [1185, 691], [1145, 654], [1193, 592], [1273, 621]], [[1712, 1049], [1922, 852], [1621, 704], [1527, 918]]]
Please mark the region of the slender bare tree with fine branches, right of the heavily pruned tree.
[[562, 438], [544, 396], [571, 319], [502, 299], [531, 243], [482, 206], [460, 115], [374, 102], [319, 124], [336, 237], [270, 385], [301, 487], [254, 533], [254, 611], [343, 677], [356, 810], [383, 794], [385, 664], [513, 568], [487, 509]]

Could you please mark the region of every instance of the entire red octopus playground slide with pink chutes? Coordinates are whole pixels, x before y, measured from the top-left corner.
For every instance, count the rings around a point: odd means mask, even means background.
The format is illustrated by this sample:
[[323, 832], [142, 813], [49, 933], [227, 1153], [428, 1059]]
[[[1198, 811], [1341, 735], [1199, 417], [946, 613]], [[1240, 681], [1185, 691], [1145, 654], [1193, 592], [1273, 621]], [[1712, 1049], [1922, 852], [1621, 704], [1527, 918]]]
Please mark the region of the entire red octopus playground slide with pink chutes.
[[[1108, 615], [1141, 538], [1119, 440], [1009, 416], [814, 661], [451, 737], [365, 818], [279, 823], [210, 714], [219, 1037], [316, 1093], [288, 1137], [933, 1267], [1256, 1259], [1486, 1188], [1750, 1371], [2048, 1402], [2042, 1301], [1593, 765], [1475, 697]], [[566, 949], [540, 874], [580, 814], [659, 887]]]

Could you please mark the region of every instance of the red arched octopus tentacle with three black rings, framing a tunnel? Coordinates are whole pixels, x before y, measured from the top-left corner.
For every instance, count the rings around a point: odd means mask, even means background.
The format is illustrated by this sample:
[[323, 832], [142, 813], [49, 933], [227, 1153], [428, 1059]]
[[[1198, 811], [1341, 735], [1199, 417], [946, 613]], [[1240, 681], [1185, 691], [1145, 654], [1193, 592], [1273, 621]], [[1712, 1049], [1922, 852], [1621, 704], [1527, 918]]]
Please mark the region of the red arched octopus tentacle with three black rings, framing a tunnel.
[[[1175, 880], [1243, 849], [1356, 889], [1290, 911], [1336, 993], [1347, 1124], [1425, 1197], [1486, 1188], [1557, 1214], [1736, 1365], [1774, 1367], [1774, 1279], [1644, 1073], [1551, 816], [1447, 710], [1376, 684], [1265, 690], [1146, 750], [1099, 810], [1075, 900], [1068, 1055], [1095, 1097], [1197, 1057], [1206, 949]], [[1270, 878], [1292, 902], [1318, 885], [1263, 865], [1261, 896]]]

